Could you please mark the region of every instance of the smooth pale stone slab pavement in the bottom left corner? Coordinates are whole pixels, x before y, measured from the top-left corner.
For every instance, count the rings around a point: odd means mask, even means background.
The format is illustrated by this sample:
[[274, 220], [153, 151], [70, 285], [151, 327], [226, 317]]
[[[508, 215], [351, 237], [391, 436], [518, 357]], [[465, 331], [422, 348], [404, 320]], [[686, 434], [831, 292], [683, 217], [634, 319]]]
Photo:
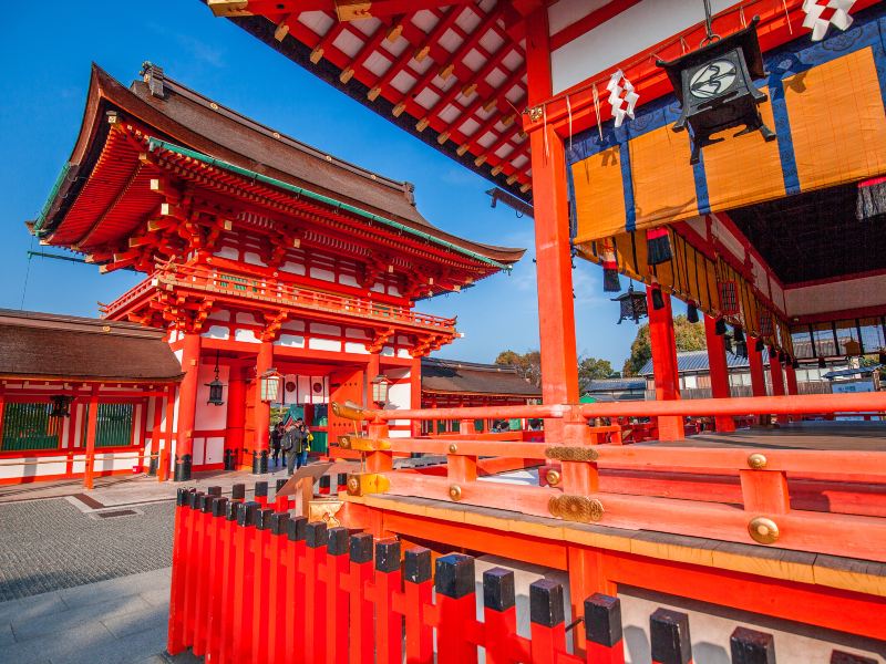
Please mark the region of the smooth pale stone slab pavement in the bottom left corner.
[[171, 569], [0, 603], [6, 664], [165, 664]]

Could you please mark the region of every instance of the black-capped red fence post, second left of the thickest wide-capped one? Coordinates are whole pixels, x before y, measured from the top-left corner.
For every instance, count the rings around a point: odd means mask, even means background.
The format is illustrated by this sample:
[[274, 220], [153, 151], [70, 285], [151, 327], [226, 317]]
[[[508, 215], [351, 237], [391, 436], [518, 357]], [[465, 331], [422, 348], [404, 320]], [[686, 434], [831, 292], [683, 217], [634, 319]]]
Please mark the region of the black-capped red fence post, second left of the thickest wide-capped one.
[[400, 664], [403, 658], [403, 616], [394, 612], [400, 592], [400, 542], [375, 542], [375, 661]]

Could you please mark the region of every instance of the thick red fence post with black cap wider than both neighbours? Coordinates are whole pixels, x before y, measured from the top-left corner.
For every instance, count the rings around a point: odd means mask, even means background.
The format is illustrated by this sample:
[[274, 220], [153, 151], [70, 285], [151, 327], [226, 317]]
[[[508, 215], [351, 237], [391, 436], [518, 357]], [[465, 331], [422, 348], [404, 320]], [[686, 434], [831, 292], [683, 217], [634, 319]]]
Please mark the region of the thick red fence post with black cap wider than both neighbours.
[[467, 639], [476, 620], [474, 559], [461, 553], [443, 556], [436, 560], [435, 572], [437, 664], [476, 664], [477, 646]]

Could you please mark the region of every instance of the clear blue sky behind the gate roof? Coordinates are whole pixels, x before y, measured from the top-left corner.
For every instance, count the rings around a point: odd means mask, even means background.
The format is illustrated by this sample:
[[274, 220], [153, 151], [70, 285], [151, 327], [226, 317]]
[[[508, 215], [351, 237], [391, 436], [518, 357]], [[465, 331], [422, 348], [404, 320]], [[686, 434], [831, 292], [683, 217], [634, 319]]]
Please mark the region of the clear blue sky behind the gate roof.
[[[132, 272], [27, 259], [25, 219], [43, 205], [70, 156], [83, 115], [90, 63], [130, 83], [143, 61], [219, 103], [322, 147], [343, 159], [415, 184], [418, 205], [433, 224], [482, 242], [528, 247], [509, 276], [418, 310], [457, 314], [465, 338], [439, 355], [491, 362], [499, 350], [538, 346], [533, 226], [490, 208], [487, 180], [463, 168], [223, 19], [198, 0], [20, 3], [0, 28], [0, 307], [97, 315], [141, 280]], [[35, 246], [34, 249], [39, 249]], [[29, 269], [30, 268], [30, 269]], [[27, 276], [27, 290], [24, 281]], [[578, 352], [610, 360], [629, 353], [635, 326], [616, 325], [617, 305], [602, 292], [601, 271], [576, 261]], [[626, 280], [622, 278], [622, 284]]]

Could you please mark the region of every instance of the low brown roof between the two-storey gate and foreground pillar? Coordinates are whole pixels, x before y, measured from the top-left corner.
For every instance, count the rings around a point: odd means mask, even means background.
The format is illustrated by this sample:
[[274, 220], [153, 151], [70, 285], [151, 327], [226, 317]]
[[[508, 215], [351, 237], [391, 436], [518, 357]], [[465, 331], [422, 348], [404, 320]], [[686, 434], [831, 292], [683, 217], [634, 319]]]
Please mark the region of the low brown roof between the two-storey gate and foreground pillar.
[[542, 396], [515, 366], [422, 357], [422, 391], [450, 394]]

